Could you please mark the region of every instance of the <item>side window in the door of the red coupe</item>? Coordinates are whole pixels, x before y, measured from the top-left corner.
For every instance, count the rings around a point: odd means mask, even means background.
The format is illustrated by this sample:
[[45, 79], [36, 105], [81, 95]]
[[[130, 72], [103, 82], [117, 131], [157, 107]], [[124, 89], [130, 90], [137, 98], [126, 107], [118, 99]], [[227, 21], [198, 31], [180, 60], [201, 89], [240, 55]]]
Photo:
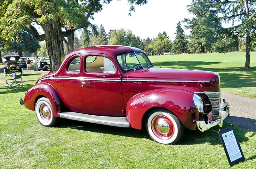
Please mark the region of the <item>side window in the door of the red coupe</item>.
[[88, 56], [85, 59], [85, 71], [95, 73], [115, 72], [116, 68], [113, 62], [103, 56]]

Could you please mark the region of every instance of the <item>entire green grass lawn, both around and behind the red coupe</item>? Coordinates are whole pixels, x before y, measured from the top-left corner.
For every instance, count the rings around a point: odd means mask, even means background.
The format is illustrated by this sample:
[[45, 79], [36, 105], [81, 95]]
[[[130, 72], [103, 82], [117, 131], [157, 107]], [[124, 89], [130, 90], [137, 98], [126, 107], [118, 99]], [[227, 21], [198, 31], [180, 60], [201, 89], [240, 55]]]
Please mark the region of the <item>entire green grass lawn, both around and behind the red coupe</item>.
[[[236, 55], [241, 57], [236, 59]], [[222, 91], [255, 92], [255, 55], [251, 70], [243, 70], [244, 55], [199, 54], [152, 56], [155, 67], [201, 69], [220, 73]], [[242, 58], [243, 56], [243, 58]], [[228, 59], [229, 58], [229, 59]], [[88, 169], [222, 169], [230, 168], [218, 127], [206, 132], [185, 131], [178, 145], [152, 141], [144, 131], [61, 120], [57, 127], [43, 127], [34, 111], [19, 104], [25, 92], [43, 74], [25, 74], [24, 88], [7, 92], [0, 83], [0, 168]], [[3, 73], [1, 81], [5, 81]], [[253, 96], [252, 96], [253, 97]], [[229, 127], [228, 121], [223, 128]], [[232, 169], [256, 165], [256, 135], [234, 126], [245, 161]]]

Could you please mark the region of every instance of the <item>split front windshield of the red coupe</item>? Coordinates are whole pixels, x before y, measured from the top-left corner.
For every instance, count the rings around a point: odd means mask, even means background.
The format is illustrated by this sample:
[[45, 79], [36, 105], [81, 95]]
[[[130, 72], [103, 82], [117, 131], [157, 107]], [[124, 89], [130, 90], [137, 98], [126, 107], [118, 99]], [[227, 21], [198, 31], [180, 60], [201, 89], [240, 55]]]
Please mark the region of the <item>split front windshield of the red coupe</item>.
[[117, 61], [124, 71], [152, 67], [147, 55], [142, 52], [131, 52], [118, 55]]

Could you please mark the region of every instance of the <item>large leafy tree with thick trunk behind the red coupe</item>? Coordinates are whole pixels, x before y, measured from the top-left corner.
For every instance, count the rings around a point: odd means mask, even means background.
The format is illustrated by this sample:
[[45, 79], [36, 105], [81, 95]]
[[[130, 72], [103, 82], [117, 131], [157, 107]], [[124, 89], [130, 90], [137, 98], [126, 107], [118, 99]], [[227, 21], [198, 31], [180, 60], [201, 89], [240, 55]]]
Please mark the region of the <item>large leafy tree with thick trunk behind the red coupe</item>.
[[[91, 27], [96, 30], [88, 19], [102, 9], [103, 3], [112, 0], [1, 0], [0, 1], [0, 32], [5, 47], [10, 42], [20, 42], [19, 34], [25, 27], [31, 29], [38, 41], [45, 40], [50, 58], [51, 71], [59, 68], [61, 54], [64, 53], [63, 37], [74, 40], [74, 31], [79, 28]], [[146, 4], [147, 0], [128, 0], [130, 12], [134, 5]], [[33, 22], [44, 30], [39, 35]], [[62, 28], [65, 31], [62, 31]], [[71, 47], [72, 48], [72, 47]]]

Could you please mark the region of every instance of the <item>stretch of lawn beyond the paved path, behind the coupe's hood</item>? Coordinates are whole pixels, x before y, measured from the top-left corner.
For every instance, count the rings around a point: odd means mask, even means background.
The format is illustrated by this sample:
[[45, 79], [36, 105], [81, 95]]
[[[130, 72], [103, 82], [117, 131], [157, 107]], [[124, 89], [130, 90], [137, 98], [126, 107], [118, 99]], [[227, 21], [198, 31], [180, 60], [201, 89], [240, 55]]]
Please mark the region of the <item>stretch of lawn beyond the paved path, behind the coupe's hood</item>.
[[245, 52], [149, 56], [155, 67], [220, 73], [221, 91], [256, 98], [256, 52], [250, 52], [250, 70], [244, 70]]

